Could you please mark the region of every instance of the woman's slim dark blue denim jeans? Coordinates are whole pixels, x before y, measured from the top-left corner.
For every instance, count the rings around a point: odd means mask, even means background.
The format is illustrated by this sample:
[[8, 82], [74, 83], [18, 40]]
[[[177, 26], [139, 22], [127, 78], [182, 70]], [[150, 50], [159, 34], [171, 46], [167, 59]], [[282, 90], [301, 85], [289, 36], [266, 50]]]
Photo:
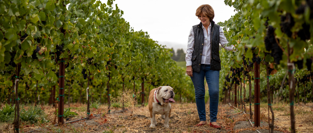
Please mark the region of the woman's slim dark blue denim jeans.
[[192, 72], [190, 77], [195, 88], [196, 105], [200, 121], [206, 121], [204, 77], [207, 80], [210, 96], [210, 122], [216, 122], [219, 97], [219, 71], [211, 70], [209, 64], [201, 64], [200, 72]]

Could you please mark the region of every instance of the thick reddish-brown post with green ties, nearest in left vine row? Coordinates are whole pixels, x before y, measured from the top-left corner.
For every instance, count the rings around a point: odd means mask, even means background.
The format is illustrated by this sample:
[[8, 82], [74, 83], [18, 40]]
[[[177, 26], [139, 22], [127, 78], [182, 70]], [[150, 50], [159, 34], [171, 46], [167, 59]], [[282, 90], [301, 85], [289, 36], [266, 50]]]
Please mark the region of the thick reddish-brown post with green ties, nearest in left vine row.
[[64, 82], [65, 82], [65, 65], [64, 58], [60, 59], [59, 64], [59, 108], [58, 108], [58, 125], [64, 124]]

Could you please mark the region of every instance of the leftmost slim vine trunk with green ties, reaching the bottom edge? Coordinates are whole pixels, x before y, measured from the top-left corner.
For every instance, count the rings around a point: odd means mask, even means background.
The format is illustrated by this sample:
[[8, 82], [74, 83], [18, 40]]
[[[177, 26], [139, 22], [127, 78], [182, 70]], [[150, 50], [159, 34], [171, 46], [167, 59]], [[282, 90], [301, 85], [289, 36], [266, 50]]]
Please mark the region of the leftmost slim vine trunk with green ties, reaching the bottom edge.
[[18, 98], [18, 81], [20, 79], [21, 63], [16, 66], [16, 80], [15, 80], [15, 115], [14, 115], [14, 132], [19, 133], [19, 98]]

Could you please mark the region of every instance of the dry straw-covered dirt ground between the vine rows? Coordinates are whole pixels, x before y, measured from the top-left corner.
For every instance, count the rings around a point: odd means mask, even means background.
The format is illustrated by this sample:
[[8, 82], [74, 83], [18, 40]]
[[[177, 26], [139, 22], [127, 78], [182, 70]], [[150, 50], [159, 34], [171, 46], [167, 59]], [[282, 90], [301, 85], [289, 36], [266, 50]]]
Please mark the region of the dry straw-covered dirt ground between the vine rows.
[[[246, 104], [249, 112], [249, 104]], [[85, 104], [72, 104], [71, 111], [79, 115], [70, 118], [68, 121], [77, 120], [86, 117]], [[100, 105], [98, 109], [91, 109], [90, 120], [81, 120], [64, 126], [52, 126], [54, 123], [53, 115], [55, 109], [50, 106], [42, 107], [50, 120], [47, 124], [28, 124], [21, 122], [20, 131], [28, 132], [41, 128], [34, 132], [183, 132], [183, 133], [250, 133], [257, 132], [256, 130], [266, 133], [268, 132], [268, 110], [267, 104], [261, 104], [261, 124], [260, 127], [252, 127], [249, 123], [249, 113], [243, 112], [230, 107], [230, 105], [220, 105], [218, 111], [217, 122], [222, 126], [222, 129], [214, 129], [213, 127], [201, 126], [195, 127], [199, 122], [198, 112], [195, 103], [172, 103], [172, 113], [169, 120], [169, 128], [164, 128], [164, 120], [161, 115], [156, 115], [158, 122], [155, 128], [149, 128], [150, 115], [148, 107], [133, 107], [126, 108], [123, 113], [103, 113], [106, 112], [107, 105]], [[66, 107], [65, 107], [66, 108]], [[112, 108], [111, 112], [120, 111], [120, 108]], [[254, 108], [252, 106], [254, 112]], [[290, 132], [290, 113], [288, 104], [273, 104], [275, 115], [274, 132], [287, 133]], [[94, 116], [96, 114], [100, 114]], [[206, 105], [207, 122], [209, 122], [209, 107]], [[270, 114], [271, 116], [271, 114]], [[297, 132], [313, 132], [313, 103], [306, 105], [295, 105], [296, 116], [296, 131]], [[254, 116], [252, 117], [254, 119]], [[65, 121], [65, 120], [64, 120]], [[251, 120], [254, 122], [253, 120]], [[65, 121], [67, 122], [67, 121]], [[0, 123], [0, 132], [13, 132], [12, 123]]]

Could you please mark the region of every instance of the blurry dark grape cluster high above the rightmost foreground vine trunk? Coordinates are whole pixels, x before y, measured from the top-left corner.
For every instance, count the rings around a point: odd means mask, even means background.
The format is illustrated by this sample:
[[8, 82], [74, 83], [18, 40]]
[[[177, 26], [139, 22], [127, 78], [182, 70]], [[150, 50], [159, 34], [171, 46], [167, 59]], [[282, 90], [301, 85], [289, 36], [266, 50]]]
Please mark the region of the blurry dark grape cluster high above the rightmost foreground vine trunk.
[[284, 32], [287, 36], [291, 37], [292, 32], [290, 29], [295, 25], [294, 18], [291, 16], [290, 13], [286, 13], [286, 15], [280, 16], [280, 29]]

